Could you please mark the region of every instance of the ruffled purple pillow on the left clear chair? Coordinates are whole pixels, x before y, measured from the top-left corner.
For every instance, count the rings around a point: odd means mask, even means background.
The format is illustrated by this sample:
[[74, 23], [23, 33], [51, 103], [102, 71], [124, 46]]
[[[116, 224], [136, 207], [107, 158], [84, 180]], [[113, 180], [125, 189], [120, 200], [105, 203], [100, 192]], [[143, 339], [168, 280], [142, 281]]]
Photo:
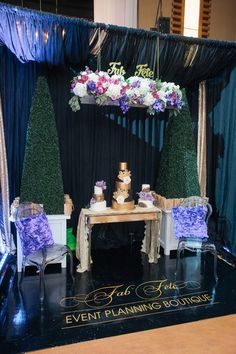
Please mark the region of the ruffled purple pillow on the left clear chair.
[[15, 224], [20, 235], [24, 256], [54, 244], [52, 231], [44, 213], [16, 220]]

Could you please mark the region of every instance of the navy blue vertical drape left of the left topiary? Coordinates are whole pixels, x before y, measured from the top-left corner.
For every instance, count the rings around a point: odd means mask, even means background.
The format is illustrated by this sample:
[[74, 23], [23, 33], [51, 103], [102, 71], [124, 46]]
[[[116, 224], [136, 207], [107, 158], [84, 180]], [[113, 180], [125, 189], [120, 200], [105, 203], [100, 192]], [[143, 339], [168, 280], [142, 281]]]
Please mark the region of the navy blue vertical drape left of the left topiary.
[[0, 88], [12, 202], [20, 192], [27, 124], [36, 82], [36, 63], [21, 64], [6, 47], [0, 47], [0, 63]]

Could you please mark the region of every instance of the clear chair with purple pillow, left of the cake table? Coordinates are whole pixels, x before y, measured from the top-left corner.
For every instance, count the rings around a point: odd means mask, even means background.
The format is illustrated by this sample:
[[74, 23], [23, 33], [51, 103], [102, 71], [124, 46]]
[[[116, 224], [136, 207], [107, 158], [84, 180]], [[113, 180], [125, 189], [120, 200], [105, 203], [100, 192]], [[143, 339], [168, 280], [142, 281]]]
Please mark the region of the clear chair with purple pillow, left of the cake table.
[[59, 263], [67, 255], [70, 258], [70, 275], [73, 278], [73, 255], [66, 245], [53, 241], [50, 226], [43, 207], [35, 203], [20, 203], [15, 218], [23, 251], [20, 284], [26, 265], [36, 266], [40, 279], [40, 300], [44, 300], [44, 271], [48, 264]]

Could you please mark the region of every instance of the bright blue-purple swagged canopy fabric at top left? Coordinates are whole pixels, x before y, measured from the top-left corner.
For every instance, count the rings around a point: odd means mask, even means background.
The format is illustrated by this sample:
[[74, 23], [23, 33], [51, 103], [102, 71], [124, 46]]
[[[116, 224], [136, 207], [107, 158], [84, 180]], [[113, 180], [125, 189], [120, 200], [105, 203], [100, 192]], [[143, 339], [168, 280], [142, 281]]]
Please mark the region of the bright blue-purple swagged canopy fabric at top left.
[[0, 44], [23, 63], [86, 63], [89, 22], [0, 4]]

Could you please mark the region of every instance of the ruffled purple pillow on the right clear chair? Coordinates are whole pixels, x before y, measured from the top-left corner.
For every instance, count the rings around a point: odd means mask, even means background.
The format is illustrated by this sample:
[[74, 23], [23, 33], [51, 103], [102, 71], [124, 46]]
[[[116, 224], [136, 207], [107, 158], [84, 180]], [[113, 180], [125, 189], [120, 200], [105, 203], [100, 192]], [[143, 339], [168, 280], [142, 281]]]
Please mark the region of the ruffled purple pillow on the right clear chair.
[[174, 237], [208, 238], [205, 222], [207, 208], [203, 205], [194, 207], [179, 206], [172, 209]]

